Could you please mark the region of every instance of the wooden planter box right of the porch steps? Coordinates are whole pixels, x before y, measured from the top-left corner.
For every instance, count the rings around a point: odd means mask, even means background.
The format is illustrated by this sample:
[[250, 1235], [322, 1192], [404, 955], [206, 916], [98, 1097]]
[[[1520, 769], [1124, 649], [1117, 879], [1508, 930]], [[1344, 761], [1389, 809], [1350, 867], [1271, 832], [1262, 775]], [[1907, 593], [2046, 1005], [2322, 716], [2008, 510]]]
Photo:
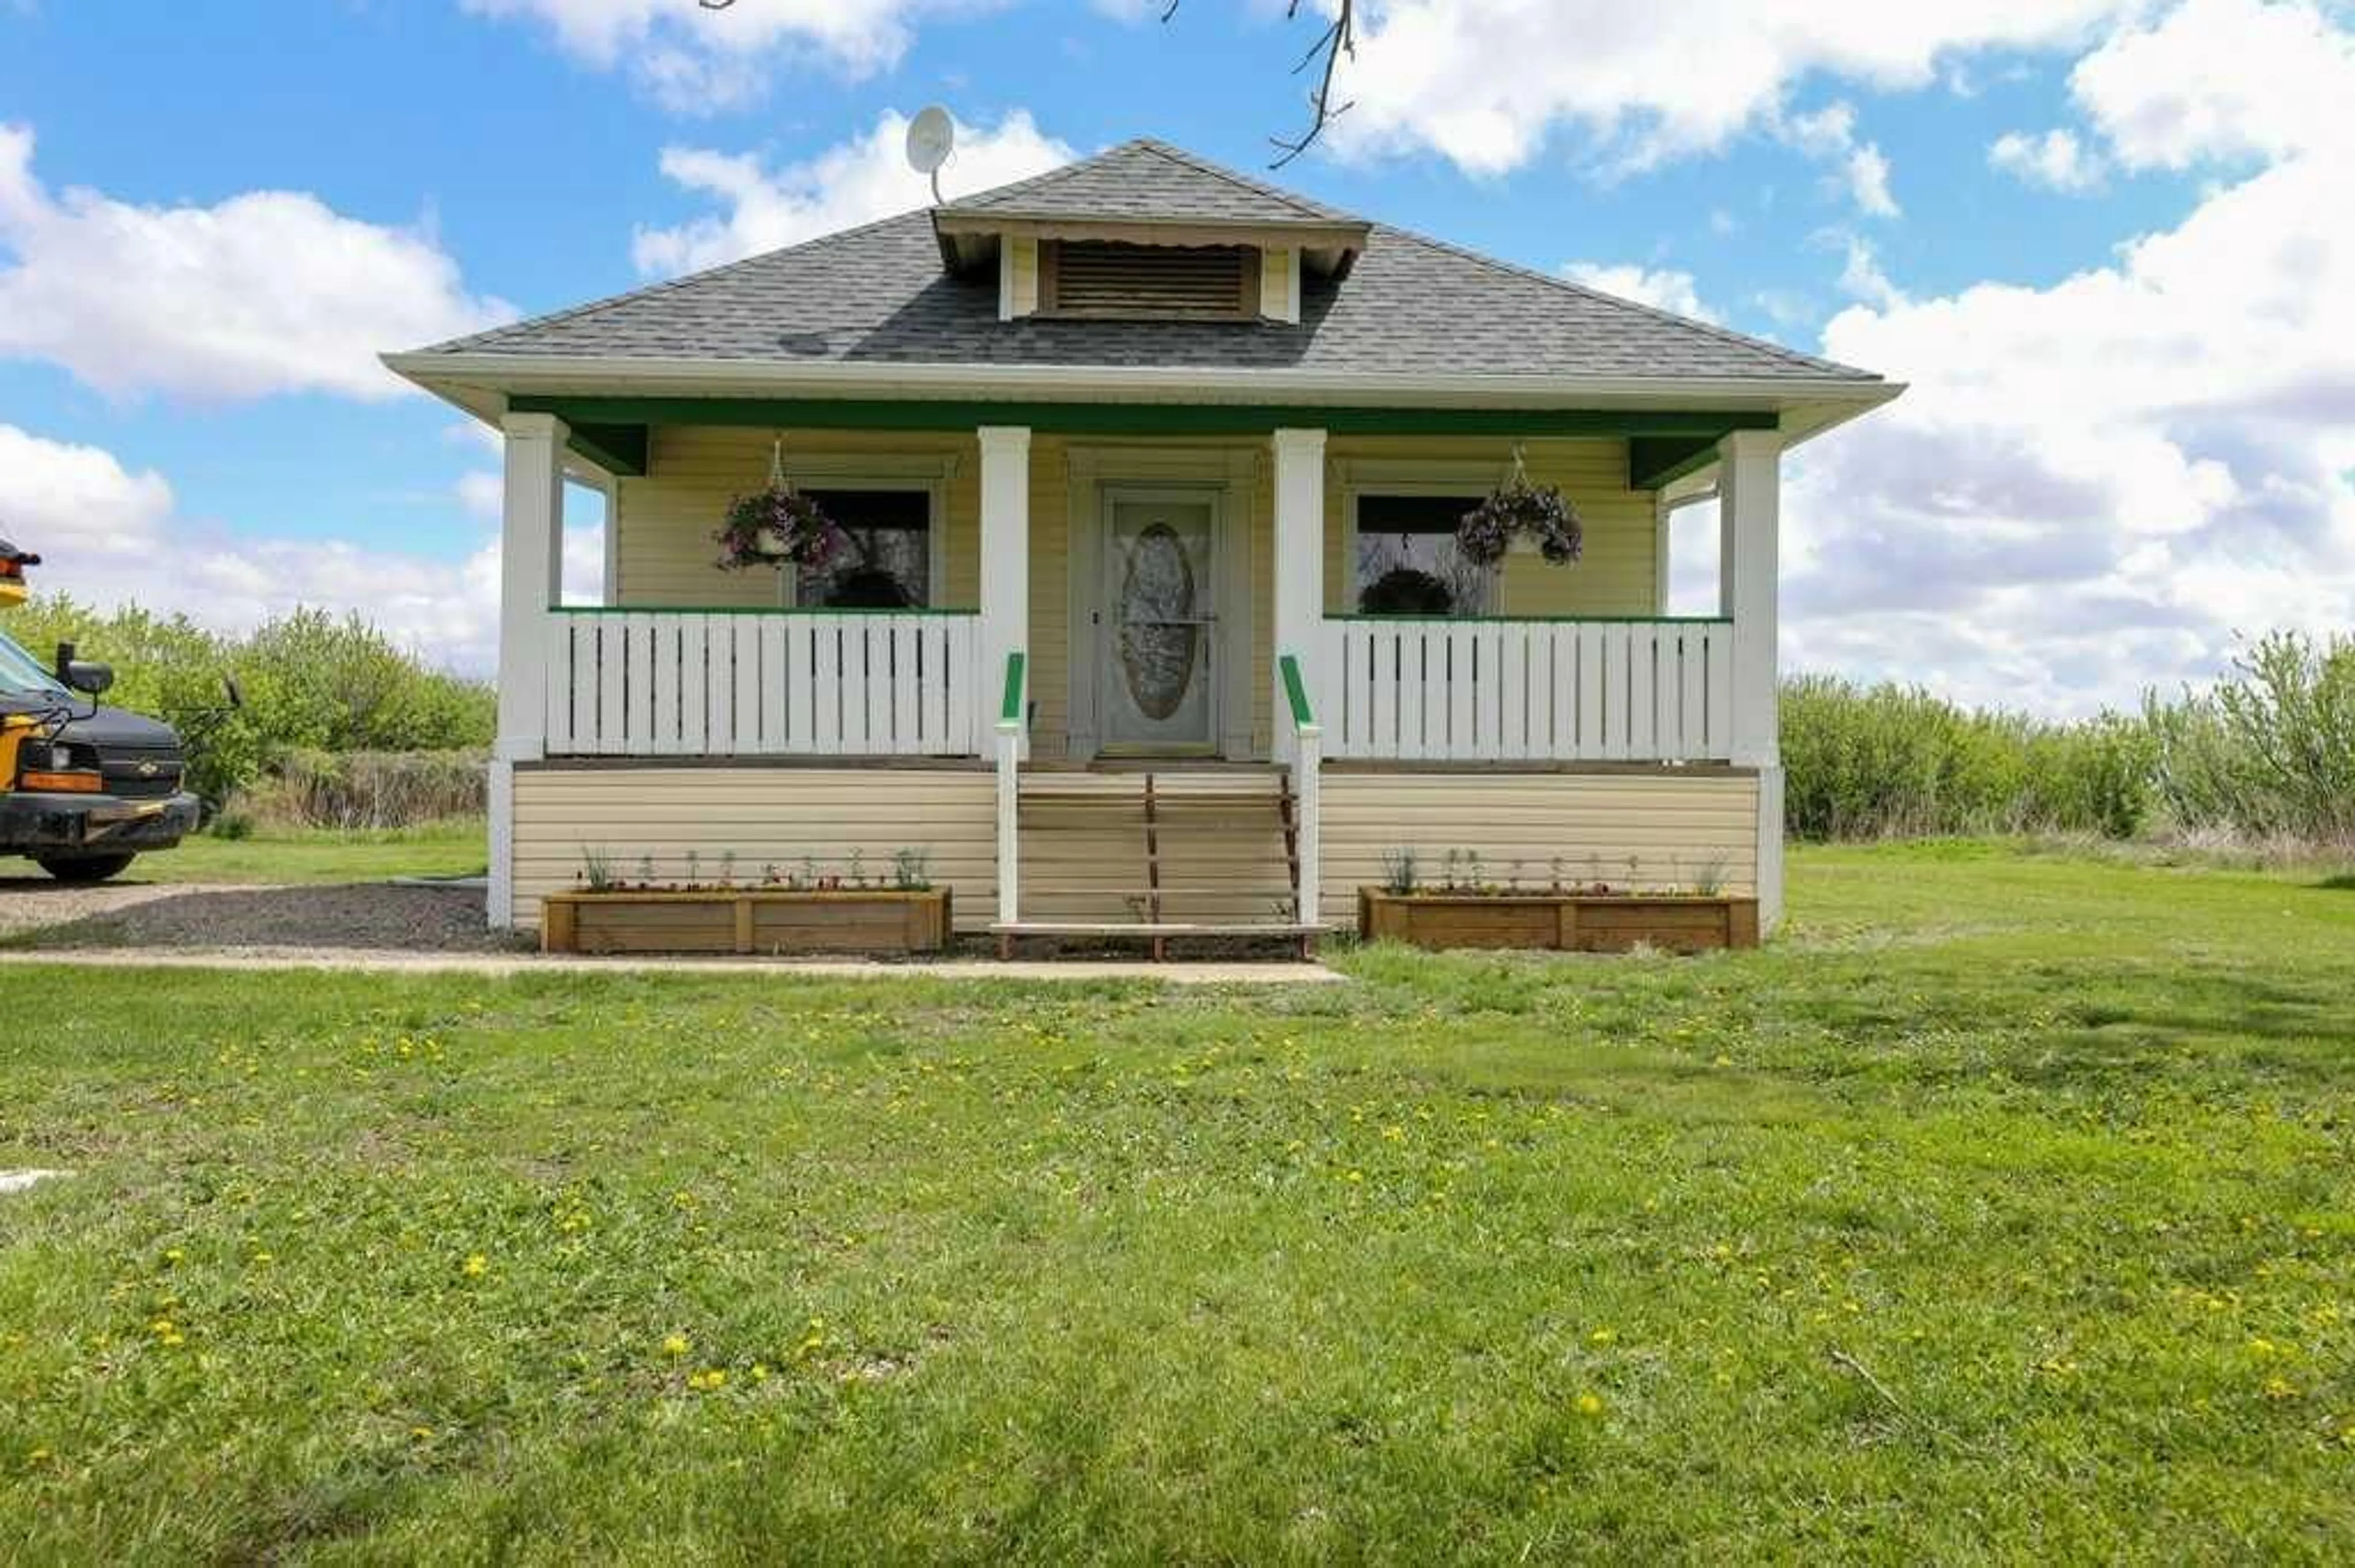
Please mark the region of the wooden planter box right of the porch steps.
[[1625, 954], [1646, 944], [1677, 954], [1759, 944], [1759, 902], [1646, 897], [1641, 892], [1385, 892], [1356, 890], [1356, 935], [1413, 946], [1535, 946]]

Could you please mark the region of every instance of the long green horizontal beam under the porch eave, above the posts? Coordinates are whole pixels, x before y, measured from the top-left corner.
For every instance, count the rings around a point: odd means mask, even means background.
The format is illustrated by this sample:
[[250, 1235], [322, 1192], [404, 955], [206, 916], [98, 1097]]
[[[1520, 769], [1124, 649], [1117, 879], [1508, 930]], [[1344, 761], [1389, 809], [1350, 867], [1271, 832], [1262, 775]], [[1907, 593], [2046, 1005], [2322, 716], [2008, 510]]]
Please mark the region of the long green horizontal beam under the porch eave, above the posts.
[[1762, 410], [1594, 407], [1312, 407], [1281, 403], [975, 403], [951, 398], [605, 398], [518, 396], [518, 414], [584, 426], [706, 424], [803, 431], [973, 431], [1024, 424], [1062, 436], [1265, 436], [1324, 428], [1335, 436], [1658, 436], [1717, 443], [1771, 431]]

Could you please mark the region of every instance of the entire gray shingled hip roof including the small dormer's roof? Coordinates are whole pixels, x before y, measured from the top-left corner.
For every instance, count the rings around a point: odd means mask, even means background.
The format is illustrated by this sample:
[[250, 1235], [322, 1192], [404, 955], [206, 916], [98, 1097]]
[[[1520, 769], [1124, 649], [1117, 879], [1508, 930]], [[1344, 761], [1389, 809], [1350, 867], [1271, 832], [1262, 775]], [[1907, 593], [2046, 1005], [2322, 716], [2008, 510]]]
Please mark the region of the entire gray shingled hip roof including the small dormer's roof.
[[[1093, 184], [1114, 165], [1208, 170], [1159, 144], [1126, 144], [1062, 172]], [[1234, 202], [1295, 202], [1295, 221], [1335, 221], [1328, 207], [1241, 191]], [[1048, 174], [961, 202], [1031, 200], [1067, 186]], [[1156, 177], [1159, 179], [1159, 177]], [[1222, 198], [1225, 200], [1225, 198]], [[1090, 212], [1102, 214], [1095, 205]], [[1199, 217], [1154, 210], [1156, 217]], [[1260, 212], [1253, 214], [1265, 217]], [[1347, 278], [1309, 275], [1300, 325], [1182, 320], [999, 320], [994, 275], [956, 278], [940, 264], [928, 212], [749, 257], [636, 294], [497, 327], [431, 353], [662, 360], [782, 360], [838, 365], [1055, 365], [1307, 370], [1335, 374], [1552, 374], [1663, 379], [1856, 379], [1870, 372], [1613, 299], [1493, 261], [1404, 228], [1371, 226]]]

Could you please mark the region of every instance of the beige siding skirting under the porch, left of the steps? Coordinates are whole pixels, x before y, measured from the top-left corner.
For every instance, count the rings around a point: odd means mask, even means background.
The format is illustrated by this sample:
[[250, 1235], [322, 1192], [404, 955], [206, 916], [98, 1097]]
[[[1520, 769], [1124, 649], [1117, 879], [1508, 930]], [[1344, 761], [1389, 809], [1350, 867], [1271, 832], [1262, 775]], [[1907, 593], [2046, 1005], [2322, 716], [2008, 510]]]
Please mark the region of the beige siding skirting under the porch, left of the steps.
[[815, 869], [888, 881], [893, 855], [923, 850], [935, 885], [956, 890], [956, 925], [996, 909], [996, 782], [982, 768], [518, 768], [516, 923], [539, 925], [546, 892], [579, 885], [586, 855], [636, 878], [737, 881]]

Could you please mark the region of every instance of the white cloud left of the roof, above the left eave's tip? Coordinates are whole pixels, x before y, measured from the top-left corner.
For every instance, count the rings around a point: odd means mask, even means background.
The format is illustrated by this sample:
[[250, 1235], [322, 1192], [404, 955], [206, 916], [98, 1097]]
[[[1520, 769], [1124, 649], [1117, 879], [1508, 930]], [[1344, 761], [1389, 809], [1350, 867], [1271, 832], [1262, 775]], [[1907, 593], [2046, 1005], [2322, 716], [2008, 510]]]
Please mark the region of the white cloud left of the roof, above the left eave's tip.
[[31, 127], [0, 125], [0, 358], [64, 365], [108, 396], [398, 398], [407, 386], [377, 353], [506, 315], [429, 233], [297, 191], [214, 207], [52, 193]]

